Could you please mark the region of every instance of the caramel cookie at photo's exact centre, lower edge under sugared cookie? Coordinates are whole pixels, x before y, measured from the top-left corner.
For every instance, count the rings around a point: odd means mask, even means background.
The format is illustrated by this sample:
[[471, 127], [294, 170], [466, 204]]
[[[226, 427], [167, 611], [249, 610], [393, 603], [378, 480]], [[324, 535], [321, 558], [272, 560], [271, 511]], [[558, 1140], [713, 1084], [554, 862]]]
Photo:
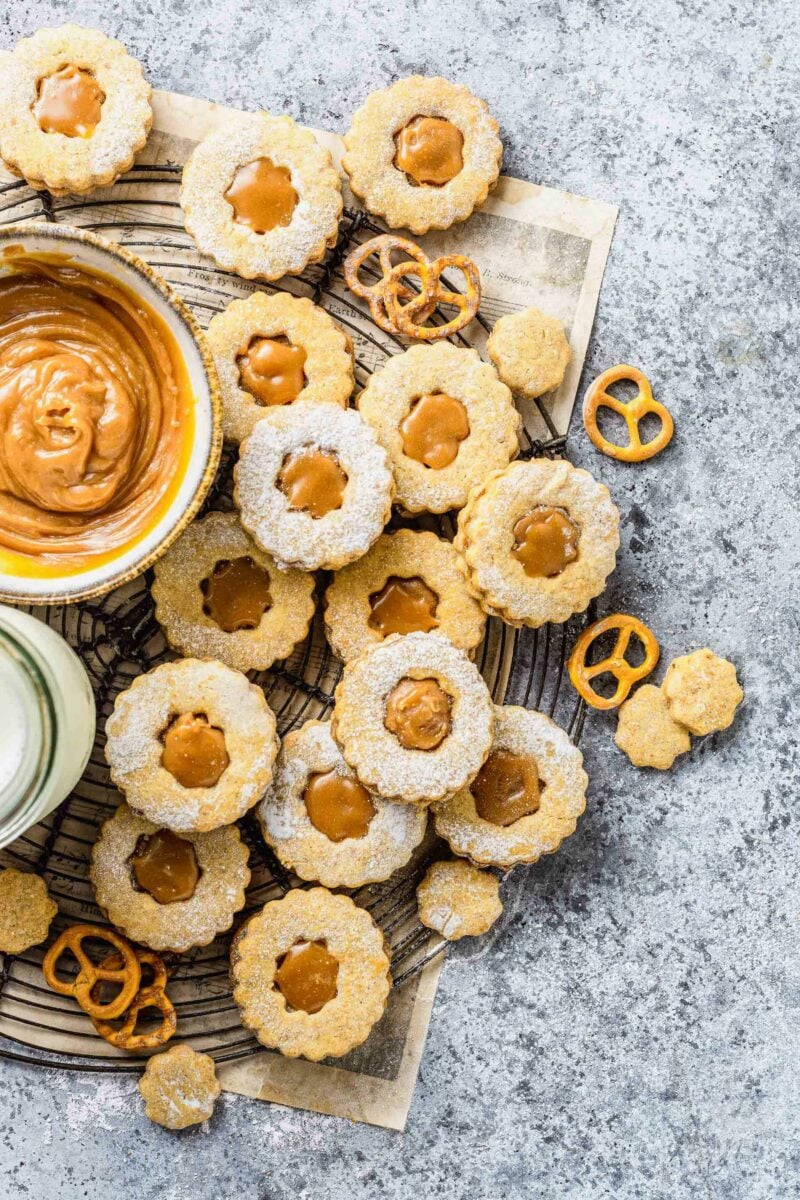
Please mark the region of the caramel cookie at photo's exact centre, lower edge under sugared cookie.
[[343, 662], [390, 634], [444, 634], [474, 650], [486, 613], [469, 594], [458, 551], [419, 529], [381, 534], [363, 558], [333, 576], [325, 593], [325, 631]]

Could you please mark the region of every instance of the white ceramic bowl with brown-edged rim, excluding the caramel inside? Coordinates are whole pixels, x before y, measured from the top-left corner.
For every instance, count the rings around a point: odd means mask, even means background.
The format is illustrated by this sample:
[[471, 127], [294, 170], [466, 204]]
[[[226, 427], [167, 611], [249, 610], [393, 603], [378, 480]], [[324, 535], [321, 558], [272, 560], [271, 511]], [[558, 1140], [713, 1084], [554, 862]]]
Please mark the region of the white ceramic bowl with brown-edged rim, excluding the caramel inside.
[[[2, 252], [37, 257], [64, 254], [76, 266], [100, 271], [139, 295], [169, 328], [194, 394], [194, 439], [190, 460], [167, 511], [157, 524], [110, 562], [76, 574], [35, 578], [0, 571], [0, 600], [12, 604], [67, 604], [101, 595], [140, 575], [186, 528], [211, 486], [222, 450], [219, 385], [203, 331], [184, 301], [143, 259], [85, 229], [30, 224], [0, 227], [0, 277], [7, 274]], [[16, 251], [17, 252], [17, 251]]]

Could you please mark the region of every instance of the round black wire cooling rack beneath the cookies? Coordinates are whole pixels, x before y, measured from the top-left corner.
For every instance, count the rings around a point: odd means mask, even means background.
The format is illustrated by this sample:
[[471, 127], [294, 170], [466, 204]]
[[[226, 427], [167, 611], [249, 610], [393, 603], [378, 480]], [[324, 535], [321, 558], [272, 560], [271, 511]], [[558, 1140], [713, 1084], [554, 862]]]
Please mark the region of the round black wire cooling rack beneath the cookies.
[[[47, 192], [31, 191], [22, 180], [13, 181], [0, 185], [0, 224], [43, 220], [80, 226], [112, 238], [161, 271], [205, 326], [231, 299], [247, 295], [255, 284], [200, 259], [184, 229], [178, 204], [179, 182], [180, 167], [139, 164], [113, 187], [80, 200], [54, 198]], [[363, 212], [345, 210], [337, 244], [325, 260], [296, 278], [281, 281], [282, 289], [311, 296], [329, 308], [350, 334], [356, 347], [359, 388], [387, 355], [405, 348], [405, 343], [392, 341], [369, 326], [363, 311], [348, 298], [341, 283], [342, 260], [350, 246], [383, 232]], [[273, 286], [258, 287], [277, 290]], [[483, 331], [488, 331], [486, 322], [480, 317], [479, 320]], [[452, 341], [469, 344], [461, 335]], [[523, 457], [563, 455], [564, 438], [558, 437], [541, 403], [539, 413], [551, 439], [537, 442], [527, 437]], [[234, 461], [233, 451], [223, 454], [206, 510], [231, 508]], [[453, 533], [447, 517], [403, 523], [425, 524], [444, 536]], [[325, 583], [326, 580], [320, 578], [319, 596]], [[97, 830], [120, 803], [103, 754], [104, 719], [119, 692], [137, 674], [174, 655], [154, 616], [150, 572], [101, 600], [35, 611], [58, 629], [83, 659], [98, 713], [97, 740], [72, 796], [44, 822], [0, 852], [0, 862], [6, 865], [34, 869], [47, 880], [59, 902], [59, 914], [50, 930], [53, 937], [76, 920], [106, 924], [95, 906], [88, 878], [89, 853]], [[565, 686], [564, 677], [567, 650], [582, 625], [583, 620], [577, 619], [566, 625], [519, 631], [492, 619], [476, 656], [495, 701], [547, 713], [575, 742], [581, 737], [585, 710], [583, 702], [569, 685]], [[284, 734], [309, 718], [325, 718], [330, 713], [339, 674], [341, 664], [327, 647], [318, 613], [309, 637], [290, 659], [270, 671], [252, 672], [252, 678], [264, 689], [276, 713], [278, 730]], [[290, 887], [303, 886], [265, 846], [252, 817], [241, 822], [241, 829], [249, 846], [253, 877], [247, 907], [239, 913], [237, 924], [267, 900], [277, 899]], [[445, 848], [434, 838], [428, 838], [405, 870], [386, 883], [353, 893], [384, 931], [396, 986], [414, 986], [422, 967], [446, 946], [419, 923], [415, 901], [416, 884]], [[218, 1062], [243, 1058], [261, 1049], [239, 1021], [228, 980], [228, 943], [229, 937], [219, 937], [211, 946], [174, 956], [169, 962], [169, 994], [178, 1010], [179, 1028], [174, 1042], [191, 1042]], [[95, 1034], [89, 1019], [72, 1001], [44, 985], [43, 949], [38, 947], [17, 956], [0, 954], [0, 1056], [73, 1070], [140, 1070], [145, 1060], [125, 1056], [108, 1045]], [[66, 1054], [65, 1046], [70, 1048]]]

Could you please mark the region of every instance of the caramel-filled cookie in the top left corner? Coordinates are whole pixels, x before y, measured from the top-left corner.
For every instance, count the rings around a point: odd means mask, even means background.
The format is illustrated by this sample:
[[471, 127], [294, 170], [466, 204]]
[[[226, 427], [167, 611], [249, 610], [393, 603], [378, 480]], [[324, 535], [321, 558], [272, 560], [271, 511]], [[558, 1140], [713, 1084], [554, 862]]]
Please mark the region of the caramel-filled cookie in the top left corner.
[[97, 29], [40, 29], [2, 56], [0, 157], [31, 187], [90, 192], [125, 174], [152, 125], [151, 88]]

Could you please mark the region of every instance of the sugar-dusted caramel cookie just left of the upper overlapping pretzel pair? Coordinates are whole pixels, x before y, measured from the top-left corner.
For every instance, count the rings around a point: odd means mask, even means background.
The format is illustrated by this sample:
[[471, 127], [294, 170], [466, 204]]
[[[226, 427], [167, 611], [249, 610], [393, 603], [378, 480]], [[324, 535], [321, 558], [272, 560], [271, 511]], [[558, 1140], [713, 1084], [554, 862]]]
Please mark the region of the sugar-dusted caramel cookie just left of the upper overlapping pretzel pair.
[[198, 250], [218, 266], [278, 280], [335, 244], [342, 184], [327, 150], [290, 116], [237, 113], [190, 155], [180, 203]]

